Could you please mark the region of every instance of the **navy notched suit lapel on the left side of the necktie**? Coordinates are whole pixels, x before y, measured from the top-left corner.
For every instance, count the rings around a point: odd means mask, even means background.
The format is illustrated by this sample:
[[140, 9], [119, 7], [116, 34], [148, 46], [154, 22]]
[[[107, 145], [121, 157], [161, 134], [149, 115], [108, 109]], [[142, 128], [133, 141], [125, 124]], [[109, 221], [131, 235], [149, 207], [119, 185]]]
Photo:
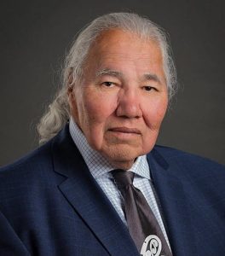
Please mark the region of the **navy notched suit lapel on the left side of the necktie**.
[[55, 138], [52, 152], [55, 172], [67, 177], [59, 189], [107, 252], [115, 256], [139, 255], [118, 213], [90, 174], [67, 127]]

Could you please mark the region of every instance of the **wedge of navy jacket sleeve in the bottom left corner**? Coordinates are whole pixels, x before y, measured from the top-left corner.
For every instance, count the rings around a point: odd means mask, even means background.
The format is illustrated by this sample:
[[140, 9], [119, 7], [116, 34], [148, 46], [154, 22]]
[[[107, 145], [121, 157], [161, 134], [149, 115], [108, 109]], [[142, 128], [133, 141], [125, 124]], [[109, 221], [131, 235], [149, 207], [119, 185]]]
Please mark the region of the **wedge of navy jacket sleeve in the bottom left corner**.
[[4, 256], [30, 256], [20, 237], [14, 232], [9, 221], [0, 212], [0, 255]]

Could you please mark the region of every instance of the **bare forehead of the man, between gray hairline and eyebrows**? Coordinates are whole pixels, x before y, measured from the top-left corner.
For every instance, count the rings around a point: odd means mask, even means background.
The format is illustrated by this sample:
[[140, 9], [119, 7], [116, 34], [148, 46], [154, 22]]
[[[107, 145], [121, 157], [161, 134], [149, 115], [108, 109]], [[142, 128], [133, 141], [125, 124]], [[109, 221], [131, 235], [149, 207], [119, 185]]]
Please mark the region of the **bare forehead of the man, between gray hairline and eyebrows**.
[[98, 68], [112, 68], [123, 72], [123, 69], [135, 67], [140, 72], [154, 73], [163, 69], [157, 42], [120, 29], [102, 32], [96, 38], [89, 49], [85, 67], [88, 72]]

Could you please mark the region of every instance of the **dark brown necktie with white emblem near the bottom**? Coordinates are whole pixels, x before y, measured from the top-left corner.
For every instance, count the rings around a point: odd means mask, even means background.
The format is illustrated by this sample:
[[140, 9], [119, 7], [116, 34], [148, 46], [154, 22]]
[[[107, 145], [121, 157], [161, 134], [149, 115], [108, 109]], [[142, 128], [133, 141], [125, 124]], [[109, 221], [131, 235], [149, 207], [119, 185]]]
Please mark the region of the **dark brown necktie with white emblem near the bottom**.
[[114, 170], [113, 177], [124, 199], [124, 215], [130, 236], [141, 255], [172, 256], [144, 195], [133, 185], [134, 173]]

